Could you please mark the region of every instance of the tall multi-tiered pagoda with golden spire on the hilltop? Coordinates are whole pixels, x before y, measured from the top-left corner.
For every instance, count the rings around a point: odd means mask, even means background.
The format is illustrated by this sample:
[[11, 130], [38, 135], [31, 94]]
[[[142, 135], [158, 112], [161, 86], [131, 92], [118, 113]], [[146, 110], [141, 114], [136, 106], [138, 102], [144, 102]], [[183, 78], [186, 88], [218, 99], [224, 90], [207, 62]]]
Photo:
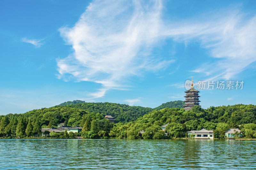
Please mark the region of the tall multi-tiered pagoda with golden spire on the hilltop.
[[199, 97], [198, 93], [199, 91], [197, 91], [196, 89], [194, 89], [193, 87], [193, 77], [192, 77], [192, 83], [191, 83], [191, 87], [189, 90], [185, 91], [186, 96], [185, 97], [185, 101], [183, 101], [185, 103], [184, 110], [191, 110], [193, 106], [199, 106]]

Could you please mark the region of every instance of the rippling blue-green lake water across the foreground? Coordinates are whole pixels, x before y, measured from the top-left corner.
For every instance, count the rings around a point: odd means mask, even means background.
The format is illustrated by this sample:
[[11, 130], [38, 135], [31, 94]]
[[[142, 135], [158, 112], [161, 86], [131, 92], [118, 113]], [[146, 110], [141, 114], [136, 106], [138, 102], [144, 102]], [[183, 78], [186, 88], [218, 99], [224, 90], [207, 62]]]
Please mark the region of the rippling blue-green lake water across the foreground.
[[256, 169], [256, 141], [0, 139], [0, 169]]

